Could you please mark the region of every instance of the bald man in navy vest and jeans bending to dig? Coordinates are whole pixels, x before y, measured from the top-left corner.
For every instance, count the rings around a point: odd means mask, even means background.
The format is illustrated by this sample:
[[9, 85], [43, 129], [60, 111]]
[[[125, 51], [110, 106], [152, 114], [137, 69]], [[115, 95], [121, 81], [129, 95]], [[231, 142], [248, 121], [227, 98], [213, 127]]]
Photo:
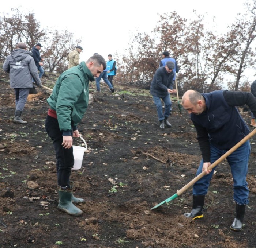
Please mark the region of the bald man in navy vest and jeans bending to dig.
[[[188, 90], [182, 97], [182, 105], [190, 114], [196, 128], [197, 140], [202, 153], [202, 161], [196, 175], [206, 172], [193, 185], [193, 206], [191, 213], [184, 214], [193, 220], [203, 217], [204, 198], [215, 168], [208, 167], [225, 154], [250, 132], [236, 106], [248, 105], [256, 114], [256, 99], [251, 92], [217, 90], [200, 94]], [[242, 229], [245, 206], [248, 204], [248, 183], [246, 174], [250, 155], [250, 143], [245, 142], [227, 157], [233, 176], [234, 201], [236, 214], [230, 228], [235, 231]]]

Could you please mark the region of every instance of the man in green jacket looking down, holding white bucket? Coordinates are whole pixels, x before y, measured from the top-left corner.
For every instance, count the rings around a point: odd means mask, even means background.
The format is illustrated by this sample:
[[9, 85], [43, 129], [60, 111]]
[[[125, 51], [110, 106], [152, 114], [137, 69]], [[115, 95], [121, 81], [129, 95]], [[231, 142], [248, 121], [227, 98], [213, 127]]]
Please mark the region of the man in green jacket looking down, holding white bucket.
[[106, 61], [101, 55], [90, 57], [79, 66], [64, 71], [57, 79], [52, 95], [47, 99], [50, 108], [45, 128], [53, 140], [56, 152], [58, 208], [73, 216], [83, 213], [73, 203], [84, 202], [84, 199], [74, 197], [74, 182], [69, 181], [74, 166], [72, 136], [79, 137], [77, 125], [88, 106], [89, 81], [93, 81], [105, 69]]

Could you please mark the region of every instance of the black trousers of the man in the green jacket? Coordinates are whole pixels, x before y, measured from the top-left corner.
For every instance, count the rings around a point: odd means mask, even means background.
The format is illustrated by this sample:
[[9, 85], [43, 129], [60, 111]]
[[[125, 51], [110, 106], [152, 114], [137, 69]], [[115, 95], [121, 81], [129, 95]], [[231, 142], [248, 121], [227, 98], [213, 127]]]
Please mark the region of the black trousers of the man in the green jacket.
[[71, 169], [74, 166], [73, 147], [65, 149], [61, 145], [61, 143], [63, 142], [63, 137], [57, 119], [47, 115], [45, 120], [45, 129], [47, 134], [53, 141], [53, 146], [56, 153], [58, 185], [61, 187], [69, 186]]

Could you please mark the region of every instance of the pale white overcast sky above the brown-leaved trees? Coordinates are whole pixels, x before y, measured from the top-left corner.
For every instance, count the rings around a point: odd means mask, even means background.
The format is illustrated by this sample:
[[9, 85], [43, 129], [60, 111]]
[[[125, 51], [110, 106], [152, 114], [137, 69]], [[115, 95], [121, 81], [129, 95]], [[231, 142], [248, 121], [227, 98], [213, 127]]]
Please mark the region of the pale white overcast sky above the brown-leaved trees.
[[95, 52], [106, 59], [108, 54], [113, 57], [116, 53], [122, 55], [132, 34], [138, 31], [149, 33], [158, 25], [158, 14], [176, 11], [182, 18], [190, 19], [195, 9], [197, 14], [206, 16], [208, 26], [213, 25], [212, 16], [215, 16], [217, 29], [225, 31], [237, 13], [244, 9], [243, 3], [243, 0], [236, 3], [233, 0], [12, 0], [4, 1], [0, 9], [5, 13], [11, 8], [19, 8], [25, 13], [30, 11], [35, 13], [41, 28], [67, 29], [74, 33], [75, 38], [83, 40], [80, 46], [84, 51], [80, 57], [87, 60]]

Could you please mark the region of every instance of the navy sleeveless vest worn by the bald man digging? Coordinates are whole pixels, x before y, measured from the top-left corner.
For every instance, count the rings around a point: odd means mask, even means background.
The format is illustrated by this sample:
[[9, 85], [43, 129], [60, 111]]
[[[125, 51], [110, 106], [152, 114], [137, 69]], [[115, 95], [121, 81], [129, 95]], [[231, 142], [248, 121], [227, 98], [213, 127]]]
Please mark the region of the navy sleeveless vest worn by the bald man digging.
[[210, 143], [220, 150], [229, 150], [250, 132], [236, 107], [229, 106], [223, 90], [202, 94], [207, 110], [191, 114], [191, 120], [205, 128]]

